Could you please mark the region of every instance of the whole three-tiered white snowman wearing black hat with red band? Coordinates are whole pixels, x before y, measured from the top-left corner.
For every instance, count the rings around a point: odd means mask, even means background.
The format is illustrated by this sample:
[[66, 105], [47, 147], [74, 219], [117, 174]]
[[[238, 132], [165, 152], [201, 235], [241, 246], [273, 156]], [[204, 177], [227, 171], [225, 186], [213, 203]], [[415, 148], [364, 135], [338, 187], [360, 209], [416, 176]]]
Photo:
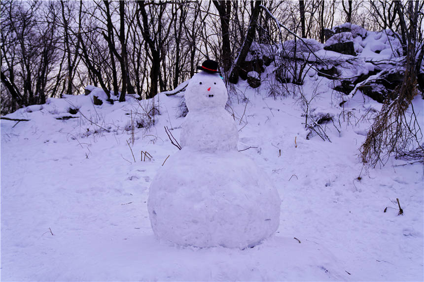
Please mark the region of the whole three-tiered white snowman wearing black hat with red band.
[[237, 125], [225, 110], [228, 94], [217, 66], [205, 61], [187, 85], [182, 149], [153, 179], [148, 211], [161, 240], [244, 249], [275, 233], [281, 200], [264, 172], [237, 151]]

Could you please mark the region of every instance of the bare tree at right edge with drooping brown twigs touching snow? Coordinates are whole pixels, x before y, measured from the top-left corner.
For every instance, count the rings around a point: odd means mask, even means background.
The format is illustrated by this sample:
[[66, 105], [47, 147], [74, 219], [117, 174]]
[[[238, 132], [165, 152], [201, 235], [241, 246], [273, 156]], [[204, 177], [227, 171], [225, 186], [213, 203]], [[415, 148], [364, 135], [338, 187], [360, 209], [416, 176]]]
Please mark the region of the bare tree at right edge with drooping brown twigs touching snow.
[[[417, 48], [417, 26], [423, 18], [423, 3], [409, 1], [403, 5], [400, 1], [395, 1], [394, 5], [398, 13], [401, 38], [404, 40], [403, 48], [406, 50], [404, 76], [403, 82], [390, 94], [391, 99], [385, 101], [362, 144], [362, 161], [371, 166], [378, 163], [384, 165], [392, 155], [424, 161], [421, 142], [423, 133], [411, 104], [417, 94], [417, 54], [420, 52], [420, 48]], [[402, 14], [405, 10], [408, 20]], [[409, 108], [412, 113], [408, 114]]]

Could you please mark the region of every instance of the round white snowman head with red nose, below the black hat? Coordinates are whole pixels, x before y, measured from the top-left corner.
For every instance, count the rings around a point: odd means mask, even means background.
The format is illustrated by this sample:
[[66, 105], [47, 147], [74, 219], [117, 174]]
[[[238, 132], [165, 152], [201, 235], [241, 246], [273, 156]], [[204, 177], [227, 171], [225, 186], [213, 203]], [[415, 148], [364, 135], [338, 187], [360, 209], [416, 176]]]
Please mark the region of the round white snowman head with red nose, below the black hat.
[[227, 88], [219, 74], [205, 71], [193, 75], [184, 96], [189, 111], [223, 108], [228, 99]]

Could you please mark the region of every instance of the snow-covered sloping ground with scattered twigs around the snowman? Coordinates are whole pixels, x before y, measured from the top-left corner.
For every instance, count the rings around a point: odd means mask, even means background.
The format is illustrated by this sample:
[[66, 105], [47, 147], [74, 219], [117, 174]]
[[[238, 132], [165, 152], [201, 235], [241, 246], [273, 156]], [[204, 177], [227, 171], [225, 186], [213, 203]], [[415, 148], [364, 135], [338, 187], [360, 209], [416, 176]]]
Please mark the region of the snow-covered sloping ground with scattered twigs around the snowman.
[[[323, 125], [331, 142], [306, 139], [299, 96], [274, 99], [261, 94], [265, 85], [238, 85], [248, 98], [233, 97], [228, 108], [238, 148], [249, 148], [242, 154], [283, 199], [276, 234], [245, 250], [154, 238], [148, 190], [178, 150], [164, 126], [179, 140], [180, 94], [156, 96], [160, 115], [135, 128], [134, 143], [131, 121], [146, 120], [151, 101], [95, 106], [92, 95], [69, 96], [8, 115], [30, 121], [1, 120], [1, 280], [423, 281], [423, 164], [363, 168], [358, 148], [370, 121], [359, 118], [380, 105], [358, 93], [338, 116], [341, 94], [326, 82], [304, 89], [318, 93], [315, 113], [334, 114], [338, 129]], [[424, 128], [420, 96], [414, 108]], [[75, 118], [56, 119], [64, 116]], [[141, 160], [141, 151], [153, 159]]]

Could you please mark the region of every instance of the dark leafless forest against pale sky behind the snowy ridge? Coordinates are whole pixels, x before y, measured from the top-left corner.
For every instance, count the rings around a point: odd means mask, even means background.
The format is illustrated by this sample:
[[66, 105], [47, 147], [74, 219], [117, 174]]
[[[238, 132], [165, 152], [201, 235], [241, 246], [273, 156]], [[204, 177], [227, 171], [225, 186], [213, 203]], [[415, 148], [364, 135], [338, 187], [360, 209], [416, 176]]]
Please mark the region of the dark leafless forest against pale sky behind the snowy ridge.
[[209, 58], [234, 83], [252, 43], [271, 53], [287, 40], [324, 43], [342, 23], [393, 32], [415, 76], [424, 55], [422, 1], [4, 0], [0, 12], [1, 114], [87, 85], [150, 98]]

